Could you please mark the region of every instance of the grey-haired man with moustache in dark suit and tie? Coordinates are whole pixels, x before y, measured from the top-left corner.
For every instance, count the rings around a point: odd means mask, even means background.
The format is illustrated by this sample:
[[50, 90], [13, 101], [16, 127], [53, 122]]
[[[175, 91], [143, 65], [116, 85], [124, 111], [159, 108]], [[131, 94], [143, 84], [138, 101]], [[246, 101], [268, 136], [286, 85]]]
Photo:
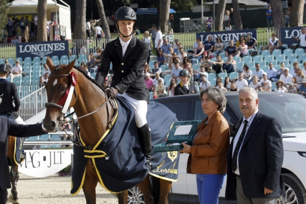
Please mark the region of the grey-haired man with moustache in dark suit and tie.
[[258, 110], [253, 88], [239, 90], [243, 118], [227, 152], [225, 198], [238, 204], [277, 204], [284, 196], [281, 176], [284, 159], [281, 125], [277, 119]]

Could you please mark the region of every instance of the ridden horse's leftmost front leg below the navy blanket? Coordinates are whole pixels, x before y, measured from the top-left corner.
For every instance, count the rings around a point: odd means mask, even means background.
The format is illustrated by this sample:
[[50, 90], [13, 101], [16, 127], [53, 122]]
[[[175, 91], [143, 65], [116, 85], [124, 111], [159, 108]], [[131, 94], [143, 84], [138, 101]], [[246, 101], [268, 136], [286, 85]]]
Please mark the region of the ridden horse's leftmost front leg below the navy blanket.
[[92, 167], [90, 159], [86, 165], [85, 181], [83, 191], [86, 199], [86, 204], [96, 204], [96, 187], [98, 184], [97, 173]]

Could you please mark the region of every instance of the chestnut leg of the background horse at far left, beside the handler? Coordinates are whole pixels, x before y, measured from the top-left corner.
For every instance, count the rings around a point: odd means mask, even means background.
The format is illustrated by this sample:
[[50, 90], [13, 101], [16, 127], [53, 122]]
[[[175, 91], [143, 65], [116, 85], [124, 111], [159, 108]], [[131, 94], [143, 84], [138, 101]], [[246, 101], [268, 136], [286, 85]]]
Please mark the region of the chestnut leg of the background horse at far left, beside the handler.
[[[18, 174], [18, 166], [19, 164], [15, 161], [15, 143], [16, 143], [16, 138], [13, 136], [8, 136], [8, 149], [7, 149], [7, 154], [6, 158], [8, 161], [8, 165], [11, 166], [10, 169], [10, 183], [11, 183], [11, 194], [7, 197], [7, 201], [13, 204], [19, 204], [18, 203], [18, 197], [17, 197], [17, 181], [19, 180], [19, 174]], [[17, 147], [16, 147], [17, 148]], [[6, 193], [8, 195], [8, 193]]]

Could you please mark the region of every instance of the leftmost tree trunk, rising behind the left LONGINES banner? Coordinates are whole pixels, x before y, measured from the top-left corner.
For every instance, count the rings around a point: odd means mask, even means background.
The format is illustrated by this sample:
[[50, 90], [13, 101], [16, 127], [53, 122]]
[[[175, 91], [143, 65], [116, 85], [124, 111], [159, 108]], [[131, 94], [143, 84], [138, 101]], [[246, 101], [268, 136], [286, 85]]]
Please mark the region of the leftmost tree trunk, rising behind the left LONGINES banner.
[[37, 38], [38, 42], [47, 41], [47, 0], [38, 1]]

